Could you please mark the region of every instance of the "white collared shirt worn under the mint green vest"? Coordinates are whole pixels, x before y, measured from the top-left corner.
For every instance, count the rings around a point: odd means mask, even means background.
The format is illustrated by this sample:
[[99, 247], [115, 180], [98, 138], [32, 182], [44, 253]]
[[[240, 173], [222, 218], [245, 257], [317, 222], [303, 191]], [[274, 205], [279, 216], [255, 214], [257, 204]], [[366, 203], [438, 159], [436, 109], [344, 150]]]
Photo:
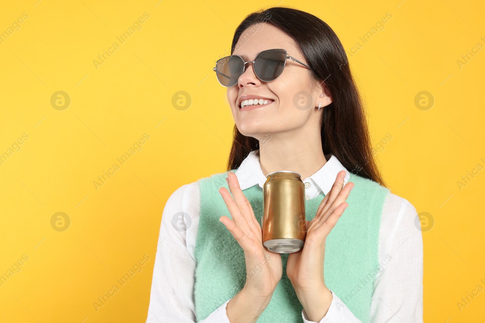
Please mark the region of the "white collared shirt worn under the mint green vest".
[[[349, 171], [335, 156], [325, 155], [325, 159], [327, 162], [321, 169], [303, 180], [307, 199], [315, 198], [320, 191], [327, 195], [342, 169], [347, 172], [344, 184], [349, 180]], [[253, 185], [259, 185], [262, 189], [266, 176], [259, 163], [259, 151], [252, 151], [235, 174], [241, 189]], [[193, 300], [194, 246], [200, 204], [197, 182], [179, 187], [167, 200], [162, 214], [146, 323], [196, 322]], [[182, 229], [178, 222], [181, 220], [179, 212], [185, 212], [185, 217], [190, 217], [184, 219], [186, 226]], [[423, 251], [420, 227], [414, 224], [416, 216], [416, 209], [411, 203], [388, 193], [381, 215], [378, 242], [378, 260], [384, 260], [382, 263], [385, 265], [374, 282], [371, 323], [423, 322]], [[330, 308], [319, 323], [361, 322], [340, 300], [339, 297], [345, 298], [346, 295], [336, 295], [334, 292], [332, 295]], [[228, 301], [200, 323], [229, 323], [226, 315]], [[304, 323], [314, 323], [308, 320], [305, 309], [302, 310], [302, 318]]]

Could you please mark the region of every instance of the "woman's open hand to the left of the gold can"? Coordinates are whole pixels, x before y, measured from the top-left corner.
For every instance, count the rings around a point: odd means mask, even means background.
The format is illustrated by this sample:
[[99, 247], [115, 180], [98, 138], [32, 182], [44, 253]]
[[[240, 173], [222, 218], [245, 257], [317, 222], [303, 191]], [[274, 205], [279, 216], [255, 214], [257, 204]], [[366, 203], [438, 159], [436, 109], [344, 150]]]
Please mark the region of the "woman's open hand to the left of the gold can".
[[254, 216], [251, 204], [242, 193], [236, 174], [228, 172], [226, 181], [232, 197], [225, 187], [221, 187], [219, 193], [233, 220], [221, 216], [219, 221], [242, 247], [246, 261], [246, 283], [227, 303], [227, 317], [230, 323], [248, 320], [256, 322], [268, 306], [281, 279], [281, 254], [271, 252], [263, 246], [261, 226]]

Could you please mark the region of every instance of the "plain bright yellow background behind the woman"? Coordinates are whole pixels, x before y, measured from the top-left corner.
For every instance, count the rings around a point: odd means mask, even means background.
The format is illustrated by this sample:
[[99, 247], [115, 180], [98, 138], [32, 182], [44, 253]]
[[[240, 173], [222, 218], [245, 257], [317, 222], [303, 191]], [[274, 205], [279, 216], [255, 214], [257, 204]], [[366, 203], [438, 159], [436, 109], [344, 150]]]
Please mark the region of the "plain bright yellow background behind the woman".
[[[165, 201], [181, 185], [225, 171], [233, 119], [216, 59], [230, 51], [243, 17], [278, 1], [30, 0], [2, 2], [0, 32], [29, 17], [0, 44], [0, 153], [29, 138], [0, 165], [0, 274], [29, 260], [0, 287], [2, 322], [145, 322]], [[483, 1], [290, 1], [319, 16], [346, 50], [386, 13], [392, 18], [349, 57], [365, 95], [377, 154], [393, 193], [434, 218], [423, 232], [424, 321], [479, 322], [485, 292], [482, 170], [485, 163]], [[102, 65], [108, 50], [143, 15], [142, 29]], [[65, 91], [70, 106], [50, 105]], [[186, 91], [192, 105], [172, 106]], [[431, 92], [434, 106], [414, 104]], [[161, 123], [162, 122], [162, 123]], [[93, 182], [143, 134], [150, 136], [96, 190]], [[52, 215], [71, 224], [58, 232]], [[102, 296], [141, 259], [150, 260], [95, 310]]]

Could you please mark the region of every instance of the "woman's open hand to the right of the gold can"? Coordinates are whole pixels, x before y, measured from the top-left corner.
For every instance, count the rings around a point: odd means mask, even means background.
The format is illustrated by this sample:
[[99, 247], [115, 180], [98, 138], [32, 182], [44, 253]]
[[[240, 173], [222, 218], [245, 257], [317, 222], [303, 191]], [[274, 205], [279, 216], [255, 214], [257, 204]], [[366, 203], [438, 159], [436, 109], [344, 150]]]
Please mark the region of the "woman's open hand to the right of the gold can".
[[349, 206], [347, 200], [354, 183], [343, 186], [345, 170], [339, 171], [335, 183], [327, 194], [317, 214], [307, 221], [307, 237], [303, 249], [288, 255], [286, 274], [295, 289], [308, 319], [320, 322], [332, 303], [332, 292], [323, 280], [323, 259], [326, 237]]

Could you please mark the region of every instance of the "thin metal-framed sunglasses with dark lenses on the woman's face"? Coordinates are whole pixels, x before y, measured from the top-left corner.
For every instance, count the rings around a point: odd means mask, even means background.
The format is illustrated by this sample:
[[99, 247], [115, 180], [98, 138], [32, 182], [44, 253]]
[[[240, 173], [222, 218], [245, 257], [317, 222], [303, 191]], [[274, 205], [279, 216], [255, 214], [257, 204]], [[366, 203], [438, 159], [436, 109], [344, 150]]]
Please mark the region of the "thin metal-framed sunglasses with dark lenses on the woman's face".
[[249, 62], [244, 62], [244, 59], [239, 55], [223, 57], [215, 63], [213, 70], [216, 72], [219, 83], [226, 88], [238, 83], [239, 77], [246, 71], [247, 63], [253, 63], [254, 74], [261, 81], [271, 82], [283, 73], [287, 58], [311, 68], [307, 64], [288, 56], [286, 49], [268, 49], [260, 52], [254, 61]]

